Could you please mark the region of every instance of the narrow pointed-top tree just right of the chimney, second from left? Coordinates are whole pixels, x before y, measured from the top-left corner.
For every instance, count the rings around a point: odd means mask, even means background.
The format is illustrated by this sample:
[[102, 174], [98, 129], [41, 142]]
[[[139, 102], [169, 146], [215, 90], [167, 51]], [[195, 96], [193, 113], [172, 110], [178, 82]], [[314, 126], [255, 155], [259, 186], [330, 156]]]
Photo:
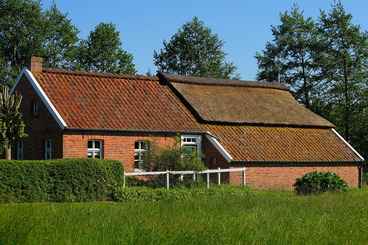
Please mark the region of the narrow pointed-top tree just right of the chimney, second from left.
[[63, 14], [57, 9], [54, 1], [50, 9], [45, 11], [46, 43], [43, 63], [46, 67], [68, 69], [73, 65], [79, 30], [71, 24], [67, 15], [68, 13]]

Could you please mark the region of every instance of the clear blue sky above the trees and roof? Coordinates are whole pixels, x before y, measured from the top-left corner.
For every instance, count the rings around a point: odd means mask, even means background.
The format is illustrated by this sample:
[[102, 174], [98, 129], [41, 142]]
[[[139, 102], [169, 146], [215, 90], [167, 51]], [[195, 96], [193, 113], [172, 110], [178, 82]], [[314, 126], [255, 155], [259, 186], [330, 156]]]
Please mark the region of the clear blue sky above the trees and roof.
[[[290, 10], [298, 3], [305, 17], [317, 19], [319, 8], [326, 13], [332, 0], [302, 1], [113, 1], [113, 0], [55, 0], [63, 13], [68, 13], [72, 24], [81, 31], [79, 38], [86, 39], [100, 22], [113, 22], [123, 42], [123, 49], [134, 56], [138, 74], [150, 68], [153, 75], [153, 50], [160, 50], [163, 39], [169, 41], [179, 28], [194, 16], [217, 33], [226, 43], [226, 61], [238, 66], [243, 80], [254, 80], [257, 72], [255, 52], [261, 52], [267, 41], [273, 39], [270, 25], [279, 25], [279, 13]], [[52, 0], [42, 0], [48, 8]], [[361, 31], [368, 30], [368, 1], [343, 0], [346, 13], [353, 15], [353, 24]]]

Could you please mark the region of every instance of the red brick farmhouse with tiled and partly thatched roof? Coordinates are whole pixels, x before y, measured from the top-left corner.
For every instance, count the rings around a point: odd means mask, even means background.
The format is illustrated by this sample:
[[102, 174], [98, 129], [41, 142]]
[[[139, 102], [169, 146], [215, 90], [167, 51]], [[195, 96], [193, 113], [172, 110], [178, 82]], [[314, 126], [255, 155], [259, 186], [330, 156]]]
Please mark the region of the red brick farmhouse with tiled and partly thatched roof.
[[209, 168], [246, 167], [254, 188], [291, 188], [314, 170], [361, 184], [364, 159], [281, 83], [49, 69], [31, 57], [15, 91], [29, 136], [12, 142], [13, 159], [109, 158], [133, 172], [149, 135], [164, 144], [179, 133]]

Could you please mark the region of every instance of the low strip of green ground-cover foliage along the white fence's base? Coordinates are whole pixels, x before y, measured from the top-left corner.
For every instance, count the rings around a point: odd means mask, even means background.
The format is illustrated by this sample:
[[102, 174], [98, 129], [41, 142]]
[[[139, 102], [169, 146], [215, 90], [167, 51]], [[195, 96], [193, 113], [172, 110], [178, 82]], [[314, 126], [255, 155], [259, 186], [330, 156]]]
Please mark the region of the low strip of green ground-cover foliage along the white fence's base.
[[201, 197], [224, 197], [226, 196], [250, 196], [254, 192], [248, 185], [220, 185], [212, 186], [210, 189], [205, 187], [185, 188], [174, 187], [165, 188], [147, 188], [147, 187], [125, 187], [115, 192], [115, 198], [120, 202], [140, 202], [140, 201], [160, 201], [168, 199], [195, 199]]

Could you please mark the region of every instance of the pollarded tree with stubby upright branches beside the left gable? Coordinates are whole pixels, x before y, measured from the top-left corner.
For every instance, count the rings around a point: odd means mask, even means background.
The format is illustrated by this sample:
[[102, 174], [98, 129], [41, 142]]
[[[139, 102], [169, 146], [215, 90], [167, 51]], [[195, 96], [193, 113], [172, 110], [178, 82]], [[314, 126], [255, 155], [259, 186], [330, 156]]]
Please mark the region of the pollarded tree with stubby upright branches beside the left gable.
[[0, 93], [0, 153], [4, 152], [4, 158], [8, 160], [11, 159], [11, 140], [16, 136], [28, 136], [24, 133], [25, 125], [22, 114], [18, 111], [21, 100], [22, 96], [17, 93], [9, 96], [8, 87], [3, 86], [3, 91]]

